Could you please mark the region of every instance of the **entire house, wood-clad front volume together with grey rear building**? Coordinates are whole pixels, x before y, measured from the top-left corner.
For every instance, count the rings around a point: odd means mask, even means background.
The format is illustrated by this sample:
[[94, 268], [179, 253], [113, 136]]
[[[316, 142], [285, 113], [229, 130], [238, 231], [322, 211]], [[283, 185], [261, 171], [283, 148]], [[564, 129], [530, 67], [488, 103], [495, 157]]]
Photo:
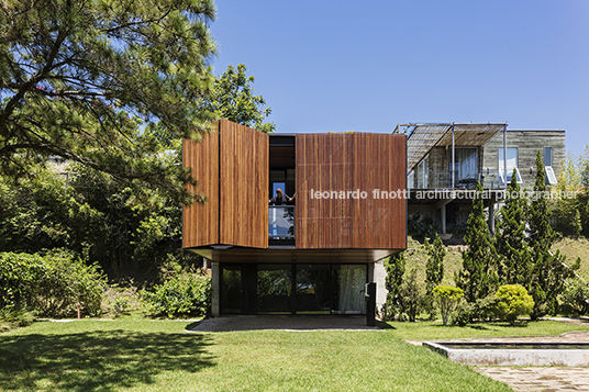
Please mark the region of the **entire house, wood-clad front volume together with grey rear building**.
[[[208, 260], [215, 315], [363, 314], [367, 282], [385, 302], [381, 260], [405, 249], [409, 215], [442, 233], [464, 225], [480, 182], [493, 231], [513, 172], [532, 190], [538, 150], [555, 184], [564, 131], [435, 123], [267, 135], [221, 120], [184, 144], [207, 203], [185, 208], [182, 245]], [[293, 201], [268, 205], [277, 189]]]

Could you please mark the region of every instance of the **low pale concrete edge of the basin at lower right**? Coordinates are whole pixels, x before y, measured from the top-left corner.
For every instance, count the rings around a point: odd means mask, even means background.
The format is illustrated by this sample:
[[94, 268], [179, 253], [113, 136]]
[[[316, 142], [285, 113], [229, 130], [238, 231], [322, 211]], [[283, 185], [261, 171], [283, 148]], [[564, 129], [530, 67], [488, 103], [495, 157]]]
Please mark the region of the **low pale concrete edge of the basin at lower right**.
[[[565, 366], [589, 367], [589, 344], [587, 343], [501, 343], [501, 346], [537, 346], [537, 348], [451, 348], [446, 345], [460, 345], [455, 341], [425, 341], [423, 345], [449, 360], [463, 365], [476, 366]], [[488, 347], [489, 343], [464, 343], [465, 346], [480, 345]], [[496, 344], [496, 346], [499, 346]], [[549, 346], [581, 346], [586, 348], [549, 348]]]

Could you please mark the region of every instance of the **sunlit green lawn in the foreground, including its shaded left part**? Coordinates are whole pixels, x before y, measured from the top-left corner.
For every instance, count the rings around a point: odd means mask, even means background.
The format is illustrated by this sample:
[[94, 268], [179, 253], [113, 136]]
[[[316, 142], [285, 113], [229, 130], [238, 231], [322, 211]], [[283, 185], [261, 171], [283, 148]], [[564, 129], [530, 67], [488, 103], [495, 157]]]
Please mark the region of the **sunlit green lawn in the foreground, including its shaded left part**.
[[510, 391], [387, 331], [186, 333], [187, 322], [35, 323], [0, 334], [0, 390]]

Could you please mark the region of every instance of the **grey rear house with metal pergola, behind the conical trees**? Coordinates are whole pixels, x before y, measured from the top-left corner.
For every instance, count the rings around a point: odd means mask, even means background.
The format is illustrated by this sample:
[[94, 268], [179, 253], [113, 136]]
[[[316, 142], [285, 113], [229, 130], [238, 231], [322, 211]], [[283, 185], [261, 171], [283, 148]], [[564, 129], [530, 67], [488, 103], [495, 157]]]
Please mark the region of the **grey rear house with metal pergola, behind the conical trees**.
[[[485, 189], [489, 226], [515, 172], [531, 191], [541, 153], [548, 186], [557, 182], [565, 158], [565, 131], [508, 130], [507, 123], [399, 124], [408, 135], [409, 215], [429, 215], [446, 233], [465, 225], [478, 182]], [[504, 152], [507, 150], [507, 154]]]

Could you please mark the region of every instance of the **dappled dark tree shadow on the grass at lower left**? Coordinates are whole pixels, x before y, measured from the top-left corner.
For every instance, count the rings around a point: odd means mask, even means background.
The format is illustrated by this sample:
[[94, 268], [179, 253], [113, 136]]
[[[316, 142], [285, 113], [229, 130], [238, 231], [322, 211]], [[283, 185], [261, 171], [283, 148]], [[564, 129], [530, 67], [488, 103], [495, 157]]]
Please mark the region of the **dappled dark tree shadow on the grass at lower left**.
[[112, 391], [214, 366], [204, 336], [91, 332], [0, 336], [0, 390]]

